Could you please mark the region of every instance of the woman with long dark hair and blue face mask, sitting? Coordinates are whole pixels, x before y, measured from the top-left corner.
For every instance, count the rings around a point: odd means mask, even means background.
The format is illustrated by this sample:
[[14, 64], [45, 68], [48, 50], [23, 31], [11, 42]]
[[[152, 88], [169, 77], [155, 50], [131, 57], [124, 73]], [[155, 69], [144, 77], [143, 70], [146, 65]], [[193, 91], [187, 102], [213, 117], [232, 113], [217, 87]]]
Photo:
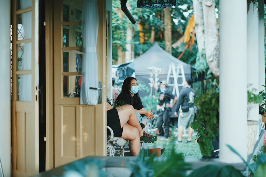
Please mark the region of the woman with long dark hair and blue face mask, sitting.
[[[128, 105], [132, 105], [138, 115], [139, 122], [141, 123], [142, 128], [147, 124], [148, 119], [154, 119], [153, 111], [144, 110], [143, 104], [139, 97], [139, 84], [135, 77], [127, 77], [122, 85], [121, 93], [118, 95], [117, 100], [122, 100]], [[149, 126], [146, 126], [143, 130], [148, 129]]]

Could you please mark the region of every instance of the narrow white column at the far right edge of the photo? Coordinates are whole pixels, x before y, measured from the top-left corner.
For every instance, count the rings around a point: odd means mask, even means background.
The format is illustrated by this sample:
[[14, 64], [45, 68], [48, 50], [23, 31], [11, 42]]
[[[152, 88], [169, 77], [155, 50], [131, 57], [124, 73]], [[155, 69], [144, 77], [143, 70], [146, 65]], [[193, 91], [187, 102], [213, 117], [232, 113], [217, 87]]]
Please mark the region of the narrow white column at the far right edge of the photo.
[[264, 3], [259, 1], [259, 92], [265, 88], [265, 67], [264, 67]]

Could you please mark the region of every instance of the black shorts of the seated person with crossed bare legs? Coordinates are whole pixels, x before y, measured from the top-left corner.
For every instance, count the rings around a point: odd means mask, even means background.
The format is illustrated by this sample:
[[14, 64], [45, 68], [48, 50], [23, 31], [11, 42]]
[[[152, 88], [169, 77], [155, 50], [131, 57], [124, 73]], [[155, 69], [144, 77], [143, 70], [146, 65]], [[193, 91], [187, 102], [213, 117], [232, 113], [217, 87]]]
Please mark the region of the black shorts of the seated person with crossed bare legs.
[[[106, 117], [107, 117], [107, 126], [113, 129], [114, 136], [121, 137], [122, 132], [123, 132], [123, 127], [121, 128], [121, 123], [120, 123], [117, 109], [113, 108], [113, 109], [108, 110]], [[111, 135], [108, 129], [107, 129], [107, 135]]]

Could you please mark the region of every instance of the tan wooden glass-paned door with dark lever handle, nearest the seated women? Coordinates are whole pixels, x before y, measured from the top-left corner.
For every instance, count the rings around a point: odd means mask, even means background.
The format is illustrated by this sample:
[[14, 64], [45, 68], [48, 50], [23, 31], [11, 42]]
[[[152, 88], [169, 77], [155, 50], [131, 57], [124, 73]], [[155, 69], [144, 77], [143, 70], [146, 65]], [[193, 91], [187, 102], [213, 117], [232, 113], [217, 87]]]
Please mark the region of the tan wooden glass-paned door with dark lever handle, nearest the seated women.
[[[82, 68], [82, 0], [57, 0], [55, 24], [55, 167], [86, 156], [106, 155], [106, 100], [97, 106], [80, 105]], [[98, 81], [105, 85], [105, 1], [98, 1]], [[102, 89], [106, 98], [106, 90]]]

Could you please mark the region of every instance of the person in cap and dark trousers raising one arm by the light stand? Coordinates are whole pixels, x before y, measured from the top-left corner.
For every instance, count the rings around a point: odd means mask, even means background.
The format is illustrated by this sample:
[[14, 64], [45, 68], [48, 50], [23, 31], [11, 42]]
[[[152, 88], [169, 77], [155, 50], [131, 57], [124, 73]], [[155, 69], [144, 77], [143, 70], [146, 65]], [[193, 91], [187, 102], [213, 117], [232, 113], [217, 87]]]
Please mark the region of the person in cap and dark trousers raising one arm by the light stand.
[[[171, 108], [176, 104], [178, 98], [168, 91], [168, 84], [166, 80], [163, 80], [160, 83], [161, 85], [159, 88], [157, 85], [155, 85], [155, 82], [153, 80], [153, 88], [160, 93], [159, 97], [160, 113], [156, 121], [160, 135], [158, 139], [169, 140], [168, 136], [170, 131], [170, 116], [172, 114]], [[171, 99], [173, 99], [172, 105], [170, 105]], [[163, 123], [164, 123], [164, 129], [163, 129]]]

